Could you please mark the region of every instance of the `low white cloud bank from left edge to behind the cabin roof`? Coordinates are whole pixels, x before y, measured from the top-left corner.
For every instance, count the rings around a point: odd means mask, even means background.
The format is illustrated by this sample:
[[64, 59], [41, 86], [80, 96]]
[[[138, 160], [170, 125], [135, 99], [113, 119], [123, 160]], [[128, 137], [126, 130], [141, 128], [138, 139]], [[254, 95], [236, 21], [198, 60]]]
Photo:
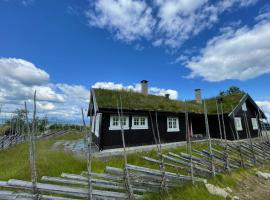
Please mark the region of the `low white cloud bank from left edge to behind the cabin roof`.
[[[33, 95], [37, 91], [37, 112], [50, 120], [81, 122], [81, 108], [87, 109], [89, 89], [82, 85], [52, 83], [49, 74], [33, 63], [17, 58], [0, 58], [0, 118], [10, 116], [16, 109], [24, 109], [24, 101], [32, 111]], [[21, 76], [23, 75], [23, 76]], [[114, 82], [97, 82], [92, 87], [139, 92], [140, 84], [123, 85]], [[177, 91], [150, 87], [149, 92], [177, 98]]]

